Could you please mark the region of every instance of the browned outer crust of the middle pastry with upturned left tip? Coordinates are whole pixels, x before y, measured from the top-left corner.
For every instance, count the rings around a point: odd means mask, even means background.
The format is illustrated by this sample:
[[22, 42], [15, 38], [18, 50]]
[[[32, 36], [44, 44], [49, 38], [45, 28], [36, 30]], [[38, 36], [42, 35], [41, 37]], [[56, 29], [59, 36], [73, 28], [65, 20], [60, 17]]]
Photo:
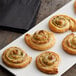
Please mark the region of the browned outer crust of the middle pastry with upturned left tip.
[[54, 44], [55, 44], [55, 42], [56, 42], [55, 36], [54, 36], [53, 33], [52, 33], [53, 42], [50, 43], [50, 45], [48, 45], [47, 47], [37, 47], [36, 45], [34, 46], [34, 45], [31, 44], [30, 38], [27, 39], [27, 37], [31, 37], [31, 35], [30, 35], [30, 34], [26, 34], [26, 35], [25, 35], [25, 37], [24, 37], [25, 43], [26, 43], [29, 47], [31, 47], [32, 49], [38, 50], [38, 51], [47, 50], [47, 49], [51, 48], [52, 46], [54, 46]]

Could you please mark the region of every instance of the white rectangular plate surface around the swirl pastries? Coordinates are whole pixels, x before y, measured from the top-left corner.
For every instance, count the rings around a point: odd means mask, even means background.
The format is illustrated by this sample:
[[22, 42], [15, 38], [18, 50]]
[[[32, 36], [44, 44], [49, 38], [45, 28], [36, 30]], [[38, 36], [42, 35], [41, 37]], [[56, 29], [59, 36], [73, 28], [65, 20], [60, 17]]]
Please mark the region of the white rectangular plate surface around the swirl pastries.
[[[38, 25], [36, 25], [34, 28], [29, 30], [27, 33], [34, 33], [35, 31], [40, 30], [40, 29], [45, 29], [45, 30], [50, 31], [48, 28], [48, 21], [53, 15], [66, 14], [66, 15], [69, 15], [73, 18], [76, 18], [76, 15], [74, 14], [74, 11], [73, 11], [73, 3], [74, 3], [74, 0], [71, 1], [70, 3], [66, 4], [64, 7], [59, 9], [54, 14], [47, 17], [45, 20], [43, 20]], [[71, 31], [68, 31], [68, 32], [65, 32], [62, 34], [56, 34], [55, 33], [56, 44], [54, 47], [49, 49], [49, 51], [50, 50], [54, 51], [54, 52], [58, 53], [61, 57], [61, 63], [59, 65], [59, 72], [56, 75], [45, 74], [43, 72], [40, 72], [36, 68], [35, 58], [37, 55], [39, 55], [42, 52], [33, 50], [25, 44], [25, 42], [24, 42], [24, 35], [25, 34], [22, 35], [21, 37], [19, 37], [18, 39], [16, 39], [15, 41], [13, 41], [12, 43], [10, 43], [9, 45], [7, 45], [2, 50], [0, 50], [0, 65], [5, 67], [7, 70], [12, 72], [16, 76], [31, 76], [31, 75], [32, 76], [61, 76], [62, 73], [64, 73], [67, 69], [69, 69], [73, 64], [76, 63], [76, 56], [72, 56], [72, 55], [69, 55], [66, 52], [64, 52], [62, 49], [62, 46], [61, 46], [61, 43], [62, 43], [62, 40], [64, 39], [64, 37], [70, 33], [71, 33]], [[1, 59], [2, 53], [4, 52], [4, 50], [6, 48], [11, 47], [11, 46], [18, 46], [18, 47], [24, 49], [28, 53], [28, 55], [32, 56], [32, 62], [27, 67], [22, 68], [22, 69], [12, 69], [12, 68], [7, 67], [5, 64], [3, 64], [2, 59]]]

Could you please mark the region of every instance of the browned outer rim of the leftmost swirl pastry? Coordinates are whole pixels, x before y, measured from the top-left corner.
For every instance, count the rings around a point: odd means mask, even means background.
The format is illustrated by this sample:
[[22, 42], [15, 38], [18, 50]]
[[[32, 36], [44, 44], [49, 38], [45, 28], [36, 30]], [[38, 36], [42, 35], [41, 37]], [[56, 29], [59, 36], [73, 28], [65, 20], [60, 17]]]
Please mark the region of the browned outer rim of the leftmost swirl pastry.
[[[13, 47], [10, 47], [10, 48], [13, 48]], [[18, 47], [19, 48], [19, 47]], [[8, 48], [9, 49], [9, 48]], [[21, 49], [21, 48], [19, 48]], [[21, 49], [22, 50], [22, 49]], [[26, 67], [28, 64], [30, 64], [30, 62], [32, 61], [32, 57], [29, 56], [29, 61], [27, 63], [25, 63], [24, 65], [15, 65], [15, 64], [10, 64], [8, 62], [6, 62], [6, 60], [4, 59], [4, 54], [6, 53], [7, 49], [3, 52], [2, 54], [2, 61], [4, 64], [6, 64], [8, 67], [11, 67], [11, 68], [23, 68], [23, 67]], [[23, 50], [22, 50], [23, 51]], [[24, 51], [23, 51], [24, 52]]]

